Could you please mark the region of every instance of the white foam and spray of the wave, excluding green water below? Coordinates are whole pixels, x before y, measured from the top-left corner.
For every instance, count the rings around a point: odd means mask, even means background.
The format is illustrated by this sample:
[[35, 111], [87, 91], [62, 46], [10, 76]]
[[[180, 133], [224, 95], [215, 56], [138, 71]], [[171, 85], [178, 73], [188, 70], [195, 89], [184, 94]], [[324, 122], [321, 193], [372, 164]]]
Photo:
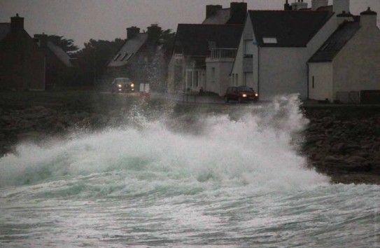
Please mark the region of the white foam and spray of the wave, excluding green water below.
[[167, 119], [134, 117], [139, 128], [77, 135], [42, 146], [20, 144], [15, 155], [0, 159], [1, 184], [35, 184], [50, 177], [115, 171], [146, 177], [137, 180], [148, 181], [146, 186], [158, 181], [213, 181], [257, 190], [303, 188], [327, 181], [305, 168], [305, 158], [292, 143], [307, 123], [295, 96], [260, 109], [244, 108], [234, 120], [227, 114], [202, 116], [191, 126], [201, 130], [197, 134], [171, 130]]

